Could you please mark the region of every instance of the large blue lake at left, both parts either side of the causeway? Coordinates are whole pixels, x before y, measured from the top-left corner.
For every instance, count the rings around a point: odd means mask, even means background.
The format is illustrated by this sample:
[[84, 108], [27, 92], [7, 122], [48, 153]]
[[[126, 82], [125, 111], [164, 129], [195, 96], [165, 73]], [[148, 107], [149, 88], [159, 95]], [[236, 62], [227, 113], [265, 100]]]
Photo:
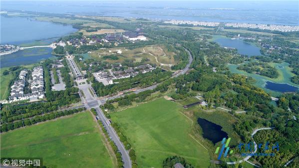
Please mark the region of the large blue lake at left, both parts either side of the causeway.
[[[48, 45], [60, 37], [77, 31], [71, 25], [36, 21], [27, 17], [1, 16], [1, 44], [34, 45], [35, 40], [42, 45]], [[0, 67], [27, 65], [53, 57], [51, 48], [31, 48], [0, 56]]]

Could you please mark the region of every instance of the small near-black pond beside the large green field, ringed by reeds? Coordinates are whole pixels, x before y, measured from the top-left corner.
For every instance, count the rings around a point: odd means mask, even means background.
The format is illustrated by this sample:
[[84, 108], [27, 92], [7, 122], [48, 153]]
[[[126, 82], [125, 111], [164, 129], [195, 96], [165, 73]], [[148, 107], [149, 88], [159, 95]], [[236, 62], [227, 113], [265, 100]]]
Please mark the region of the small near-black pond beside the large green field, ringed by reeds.
[[197, 123], [203, 129], [203, 137], [212, 141], [214, 144], [223, 138], [228, 138], [228, 134], [222, 131], [222, 127], [206, 119], [198, 118]]

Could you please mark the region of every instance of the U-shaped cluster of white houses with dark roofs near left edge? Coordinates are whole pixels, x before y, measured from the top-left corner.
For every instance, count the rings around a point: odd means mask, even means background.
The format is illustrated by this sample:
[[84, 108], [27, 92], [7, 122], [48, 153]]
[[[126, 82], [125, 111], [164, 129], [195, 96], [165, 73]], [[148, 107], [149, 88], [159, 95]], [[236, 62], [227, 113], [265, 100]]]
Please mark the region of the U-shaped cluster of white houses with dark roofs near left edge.
[[14, 81], [11, 86], [9, 102], [15, 102], [27, 99], [42, 99], [44, 97], [43, 92], [43, 68], [42, 66], [34, 67], [31, 73], [32, 82], [30, 83], [30, 89], [32, 93], [24, 94], [25, 78], [27, 70], [22, 70], [19, 75], [20, 80]]

